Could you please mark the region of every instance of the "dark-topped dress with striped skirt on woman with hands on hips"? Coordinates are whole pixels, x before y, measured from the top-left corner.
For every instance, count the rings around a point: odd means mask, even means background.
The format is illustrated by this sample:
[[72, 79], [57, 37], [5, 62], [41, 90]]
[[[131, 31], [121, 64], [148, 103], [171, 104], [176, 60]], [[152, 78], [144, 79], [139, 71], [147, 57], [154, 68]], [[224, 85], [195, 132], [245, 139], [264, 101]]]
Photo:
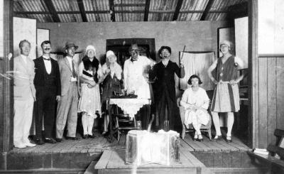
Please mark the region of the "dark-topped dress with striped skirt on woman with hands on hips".
[[231, 80], [236, 80], [238, 64], [235, 57], [229, 57], [226, 62], [217, 60], [217, 86], [212, 99], [212, 112], [239, 112], [239, 86], [231, 85]]

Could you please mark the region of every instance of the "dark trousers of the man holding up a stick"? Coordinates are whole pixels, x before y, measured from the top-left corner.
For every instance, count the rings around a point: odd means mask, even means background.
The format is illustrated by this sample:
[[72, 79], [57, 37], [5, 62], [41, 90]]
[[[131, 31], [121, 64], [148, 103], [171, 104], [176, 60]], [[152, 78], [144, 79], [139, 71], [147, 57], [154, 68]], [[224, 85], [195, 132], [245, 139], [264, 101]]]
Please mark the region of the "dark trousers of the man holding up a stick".
[[[170, 122], [170, 130], [174, 130], [175, 119], [173, 118], [173, 109], [175, 106], [175, 102], [173, 102], [173, 100], [170, 99], [168, 91], [165, 90], [162, 97], [160, 97], [160, 99], [159, 100], [157, 99], [156, 101], [157, 101], [160, 129], [163, 129], [164, 121], [168, 120]], [[165, 118], [165, 107], [167, 107], [168, 118]]]

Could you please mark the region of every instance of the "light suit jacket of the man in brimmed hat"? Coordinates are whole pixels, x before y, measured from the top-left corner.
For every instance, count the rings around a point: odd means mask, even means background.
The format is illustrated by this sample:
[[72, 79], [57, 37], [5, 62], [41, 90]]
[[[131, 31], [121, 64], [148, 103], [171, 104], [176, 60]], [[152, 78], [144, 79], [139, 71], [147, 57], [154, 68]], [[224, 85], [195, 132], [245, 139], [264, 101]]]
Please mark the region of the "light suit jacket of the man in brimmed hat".
[[[72, 67], [66, 57], [60, 58], [58, 60], [59, 71], [60, 71], [60, 80], [61, 80], [61, 96], [65, 96], [67, 94], [68, 89], [71, 85], [71, 76], [72, 76]], [[79, 72], [77, 63], [74, 62], [76, 76]], [[77, 76], [77, 86], [79, 84], [79, 77]], [[79, 92], [79, 91], [78, 91]]]

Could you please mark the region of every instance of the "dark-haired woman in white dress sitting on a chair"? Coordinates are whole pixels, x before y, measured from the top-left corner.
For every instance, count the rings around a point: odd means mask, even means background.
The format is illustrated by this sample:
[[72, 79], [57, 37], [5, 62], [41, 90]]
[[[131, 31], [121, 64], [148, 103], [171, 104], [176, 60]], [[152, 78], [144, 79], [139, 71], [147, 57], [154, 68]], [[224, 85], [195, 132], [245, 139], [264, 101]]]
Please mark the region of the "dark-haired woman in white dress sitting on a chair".
[[201, 124], [206, 125], [209, 121], [207, 109], [209, 107], [209, 97], [204, 89], [200, 87], [202, 84], [200, 77], [192, 75], [187, 82], [191, 87], [187, 88], [182, 94], [180, 105], [185, 107], [185, 121], [183, 124], [187, 126], [192, 124], [195, 128], [194, 141], [203, 141], [200, 132]]

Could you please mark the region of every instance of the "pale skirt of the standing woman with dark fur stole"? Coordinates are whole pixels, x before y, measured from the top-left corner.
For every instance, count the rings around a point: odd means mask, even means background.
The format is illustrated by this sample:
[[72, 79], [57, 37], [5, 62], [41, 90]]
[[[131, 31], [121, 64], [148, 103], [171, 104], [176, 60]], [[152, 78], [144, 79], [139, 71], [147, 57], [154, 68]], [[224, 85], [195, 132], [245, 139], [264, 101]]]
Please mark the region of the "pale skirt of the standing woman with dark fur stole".
[[87, 112], [88, 116], [97, 118], [96, 112], [101, 114], [101, 97], [99, 94], [99, 85], [89, 88], [86, 83], [82, 83], [82, 94], [79, 101], [79, 112]]

